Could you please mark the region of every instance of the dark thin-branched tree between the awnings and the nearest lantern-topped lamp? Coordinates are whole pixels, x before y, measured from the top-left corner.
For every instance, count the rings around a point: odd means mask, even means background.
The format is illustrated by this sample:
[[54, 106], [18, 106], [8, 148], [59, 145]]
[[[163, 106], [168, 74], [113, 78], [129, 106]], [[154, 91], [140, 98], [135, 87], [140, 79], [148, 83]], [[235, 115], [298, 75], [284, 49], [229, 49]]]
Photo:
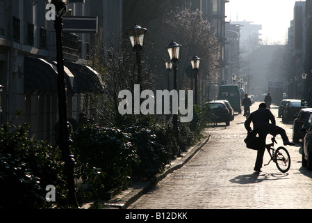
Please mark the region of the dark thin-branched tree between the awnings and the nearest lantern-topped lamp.
[[[121, 116], [118, 111], [120, 91], [126, 89], [133, 92], [133, 86], [137, 82], [138, 69], [136, 56], [131, 50], [129, 40], [116, 40], [106, 49], [106, 54], [93, 55], [90, 66], [97, 70], [104, 82], [105, 93], [103, 95], [95, 95], [96, 101], [94, 106], [98, 107], [98, 115], [102, 124], [116, 125], [120, 122]], [[147, 40], [148, 42], [148, 40]], [[101, 43], [99, 43], [101, 45]], [[149, 43], [147, 43], [149, 45]], [[154, 88], [154, 66], [151, 60], [145, 56], [141, 62], [142, 66], [142, 83], [141, 89]]]

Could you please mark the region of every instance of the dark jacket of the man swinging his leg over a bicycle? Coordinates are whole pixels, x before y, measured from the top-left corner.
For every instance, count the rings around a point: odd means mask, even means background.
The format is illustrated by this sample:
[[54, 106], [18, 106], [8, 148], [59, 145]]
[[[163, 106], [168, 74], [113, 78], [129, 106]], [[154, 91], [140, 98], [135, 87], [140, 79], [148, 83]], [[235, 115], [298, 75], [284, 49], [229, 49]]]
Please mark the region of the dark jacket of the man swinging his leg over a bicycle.
[[[271, 123], [269, 123], [271, 121]], [[245, 128], [248, 132], [252, 131], [250, 128], [250, 123], [254, 124], [254, 130], [257, 130], [258, 133], [263, 135], [269, 134], [278, 130], [279, 127], [275, 125], [275, 117], [270, 111], [270, 109], [259, 108], [255, 112], [249, 115], [245, 121]]]

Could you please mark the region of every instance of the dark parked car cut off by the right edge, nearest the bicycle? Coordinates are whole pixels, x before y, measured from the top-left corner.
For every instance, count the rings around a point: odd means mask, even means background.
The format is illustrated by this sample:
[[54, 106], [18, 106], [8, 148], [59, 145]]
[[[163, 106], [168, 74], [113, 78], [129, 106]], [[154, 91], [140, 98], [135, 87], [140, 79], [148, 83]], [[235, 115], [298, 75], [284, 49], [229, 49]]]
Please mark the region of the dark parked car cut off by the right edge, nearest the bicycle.
[[[309, 116], [312, 121], [312, 112], [309, 112]], [[302, 139], [302, 167], [308, 167], [309, 170], [312, 170], [312, 125], [309, 126], [309, 129], [302, 128], [300, 132], [304, 134]]]

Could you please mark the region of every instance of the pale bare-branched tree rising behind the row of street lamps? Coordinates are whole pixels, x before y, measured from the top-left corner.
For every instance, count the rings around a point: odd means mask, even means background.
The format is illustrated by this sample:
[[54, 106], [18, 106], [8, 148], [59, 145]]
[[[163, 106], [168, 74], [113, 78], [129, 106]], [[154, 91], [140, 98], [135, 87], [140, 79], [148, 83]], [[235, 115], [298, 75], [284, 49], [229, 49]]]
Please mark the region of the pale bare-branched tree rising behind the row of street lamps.
[[[194, 12], [185, 9], [179, 13], [172, 12], [173, 15], [167, 17], [166, 35], [172, 40], [182, 45], [180, 61], [181, 69], [186, 70], [190, 65], [190, 59], [195, 54], [202, 59], [200, 66], [201, 79], [206, 81], [215, 80], [218, 75], [220, 57], [219, 45], [213, 32], [213, 26], [203, 20], [199, 10]], [[184, 75], [180, 75], [179, 84], [183, 83]]]

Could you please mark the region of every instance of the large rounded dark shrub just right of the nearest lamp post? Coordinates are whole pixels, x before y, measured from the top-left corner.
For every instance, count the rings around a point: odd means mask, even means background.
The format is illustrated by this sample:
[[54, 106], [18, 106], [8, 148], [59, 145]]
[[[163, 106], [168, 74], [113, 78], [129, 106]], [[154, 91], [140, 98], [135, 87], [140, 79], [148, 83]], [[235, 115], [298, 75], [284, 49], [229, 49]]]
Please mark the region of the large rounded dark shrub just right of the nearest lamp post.
[[129, 134], [117, 128], [83, 125], [73, 134], [76, 174], [98, 196], [129, 183], [138, 162]]

